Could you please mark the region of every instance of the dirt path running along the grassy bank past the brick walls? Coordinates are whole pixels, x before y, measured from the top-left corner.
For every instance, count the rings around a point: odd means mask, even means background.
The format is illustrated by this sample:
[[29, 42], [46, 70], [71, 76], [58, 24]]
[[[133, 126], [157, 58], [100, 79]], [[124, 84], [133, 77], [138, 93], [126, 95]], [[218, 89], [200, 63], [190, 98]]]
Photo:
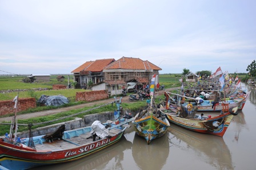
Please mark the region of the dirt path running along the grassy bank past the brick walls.
[[[170, 90], [170, 89], [167, 89], [167, 90]], [[162, 95], [163, 93], [164, 93], [164, 91], [155, 92], [155, 96]], [[113, 101], [114, 101], [114, 99], [110, 98], [110, 99], [106, 99], [106, 100], [98, 100], [98, 101], [94, 101], [94, 102], [90, 102], [90, 103], [79, 104], [76, 106], [58, 108], [55, 110], [47, 110], [47, 111], [41, 111], [41, 112], [34, 112], [34, 113], [30, 113], [30, 114], [17, 115], [17, 119], [20, 120], [20, 119], [36, 118], [39, 116], [53, 115], [53, 114], [58, 114], [60, 112], [76, 110], [76, 109], [83, 108], [86, 106], [93, 106], [95, 104], [111, 103]], [[122, 103], [129, 103], [129, 96], [122, 97]], [[6, 117], [6, 118], [0, 118], [0, 122], [11, 121], [12, 118], [13, 118], [13, 116]]]

